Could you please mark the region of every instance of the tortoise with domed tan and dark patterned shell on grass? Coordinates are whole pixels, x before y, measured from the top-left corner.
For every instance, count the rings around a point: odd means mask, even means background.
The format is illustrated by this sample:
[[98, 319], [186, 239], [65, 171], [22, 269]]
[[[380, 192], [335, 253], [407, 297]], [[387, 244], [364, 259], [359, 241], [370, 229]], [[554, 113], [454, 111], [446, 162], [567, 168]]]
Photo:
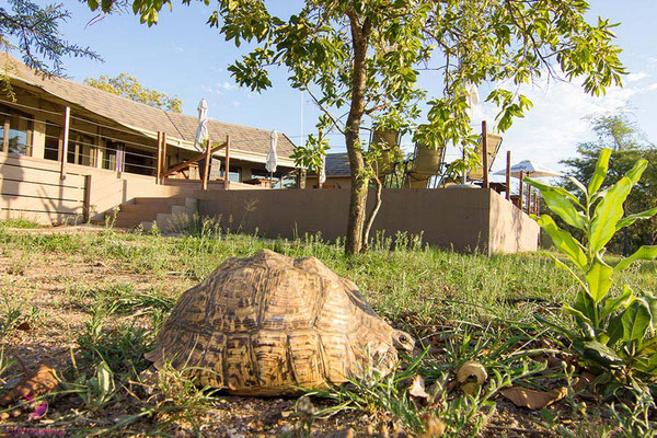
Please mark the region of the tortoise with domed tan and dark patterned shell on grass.
[[378, 368], [415, 342], [314, 257], [262, 250], [229, 258], [185, 291], [146, 358], [235, 395], [292, 395]]

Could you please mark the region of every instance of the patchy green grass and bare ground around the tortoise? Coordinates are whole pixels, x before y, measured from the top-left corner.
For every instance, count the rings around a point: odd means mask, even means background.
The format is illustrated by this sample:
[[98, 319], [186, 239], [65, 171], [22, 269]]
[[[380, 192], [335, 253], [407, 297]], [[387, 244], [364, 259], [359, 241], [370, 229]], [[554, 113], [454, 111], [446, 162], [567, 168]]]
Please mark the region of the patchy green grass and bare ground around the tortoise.
[[[575, 284], [548, 253], [463, 255], [397, 234], [380, 235], [367, 254], [346, 257], [339, 242], [323, 242], [321, 235], [264, 240], [226, 234], [211, 223], [187, 231], [162, 237], [157, 230], [48, 233], [0, 227], [0, 383], [15, 384], [22, 367], [42, 361], [61, 381], [47, 395], [49, 411], [41, 419], [28, 418], [26, 403], [10, 405], [0, 408], [1, 427], [68, 436], [428, 437], [437, 436], [430, 435], [437, 425], [445, 425], [445, 436], [652, 434], [643, 414], [654, 412], [612, 407], [591, 388], [575, 385], [581, 369], [574, 356], [537, 321], [541, 315], [570, 324], [560, 308], [573, 298]], [[176, 298], [228, 257], [265, 247], [315, 256], [351, 279], [423, 351], [391, 376], [372, 372], [303, 403], [228, 396], [199, 389], [175, 370], [162, 372], [154, 385], [139, 384], [150, 366], [143, 353]], [[635, 265], [622, 280], [655, 291], [655, 270], [654, 263]], [[453, 382], [466, 360], [488, 373], [473, 396]], [[428, 397], [410, 395], [417, 376]], [[511, 385], [565, 388], [567, 395], [530, 411], [500, 395]]]

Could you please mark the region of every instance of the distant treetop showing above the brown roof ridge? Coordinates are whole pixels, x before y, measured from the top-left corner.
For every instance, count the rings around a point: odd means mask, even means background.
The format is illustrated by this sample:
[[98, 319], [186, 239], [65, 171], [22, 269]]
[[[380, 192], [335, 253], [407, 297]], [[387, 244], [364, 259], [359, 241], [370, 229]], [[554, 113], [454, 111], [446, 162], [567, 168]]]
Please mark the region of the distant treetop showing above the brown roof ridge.
[[157, 90], [146, 88], [139, 82], [139, 79], [128, 73], [120, 73], [116, 78], [110, 78], [104, 74], [99, 79], [87, 78], [84, 83], [135, 102], [154, 106], [155, 108], [182, 113], [183, 101], [177, 96], [170, 97]]

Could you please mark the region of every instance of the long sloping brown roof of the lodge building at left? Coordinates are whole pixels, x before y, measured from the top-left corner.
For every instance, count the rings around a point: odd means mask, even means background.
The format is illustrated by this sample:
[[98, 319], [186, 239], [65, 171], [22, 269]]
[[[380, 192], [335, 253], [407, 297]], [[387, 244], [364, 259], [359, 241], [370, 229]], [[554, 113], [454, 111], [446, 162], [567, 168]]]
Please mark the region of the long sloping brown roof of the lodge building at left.
[[[44, 78], [18, 59], [1, 53], [0, 68], [8, 76], [37, 87], [48, 94], [55, 95], [91, 113], [112, 119], [125, 127], [155, 134], [166, 132], [171, 139], [194, 142], [198, 117], [172, 113], [155, 108], [129, 99], [99, 90], [66, 78]], [[223, 122], [208, 122], [210, 139], [222, 141], [230, 135], [231, 150], [240, 150], [256, 154], [269, 151], [269, 130], [233, 125]], [[289, 158], [295, 145], [285, 134], [279, 134], [277, 152], [280, 158]]]

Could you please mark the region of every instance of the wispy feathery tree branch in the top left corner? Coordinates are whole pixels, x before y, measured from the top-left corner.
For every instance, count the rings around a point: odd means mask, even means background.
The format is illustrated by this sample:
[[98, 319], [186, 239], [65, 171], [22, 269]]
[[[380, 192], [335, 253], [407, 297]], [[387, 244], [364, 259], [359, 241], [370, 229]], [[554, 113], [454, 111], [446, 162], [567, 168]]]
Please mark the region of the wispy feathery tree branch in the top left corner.
[[[42, 7], [31, 0], [8, 0], [0, 7], [0, 45], [18, 49], [27, 67], [43, 74], [61, 74], [62, 56], [100, 59], [89, 47], [62, 38], [59, 24], [70, 18], [62, 3]], [[5, 65], [2, 78], [10, 73]]]

